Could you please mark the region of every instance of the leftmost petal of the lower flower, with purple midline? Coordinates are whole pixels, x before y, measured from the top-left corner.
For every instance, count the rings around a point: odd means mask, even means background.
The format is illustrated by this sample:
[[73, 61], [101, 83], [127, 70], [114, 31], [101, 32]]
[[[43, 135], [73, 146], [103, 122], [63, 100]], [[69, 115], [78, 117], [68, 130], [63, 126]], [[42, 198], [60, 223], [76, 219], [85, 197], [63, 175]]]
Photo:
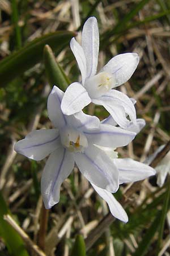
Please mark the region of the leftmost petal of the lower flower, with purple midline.
[[41, 160], [60, 146], [57, 129], [35, 130], [15, 143], [14, 150], [33, 160]]

